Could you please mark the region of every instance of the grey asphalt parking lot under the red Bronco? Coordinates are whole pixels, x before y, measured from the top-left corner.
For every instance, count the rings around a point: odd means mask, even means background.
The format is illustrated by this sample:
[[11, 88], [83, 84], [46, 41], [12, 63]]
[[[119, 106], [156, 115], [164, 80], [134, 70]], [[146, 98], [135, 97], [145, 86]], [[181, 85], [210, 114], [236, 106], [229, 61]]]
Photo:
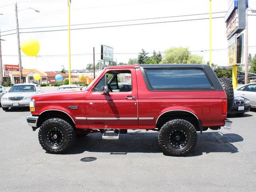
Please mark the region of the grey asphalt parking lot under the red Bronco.
[[185, 157], [164, 156], [158, 133], [145, 130], [119, 141], [89, 134], [68, 154], [48, 154], [27, 125], [29, 114], [0, 108], [1, 192], [256, 191], [256, 110], [230, 117], [231, 130], [198, 133]]

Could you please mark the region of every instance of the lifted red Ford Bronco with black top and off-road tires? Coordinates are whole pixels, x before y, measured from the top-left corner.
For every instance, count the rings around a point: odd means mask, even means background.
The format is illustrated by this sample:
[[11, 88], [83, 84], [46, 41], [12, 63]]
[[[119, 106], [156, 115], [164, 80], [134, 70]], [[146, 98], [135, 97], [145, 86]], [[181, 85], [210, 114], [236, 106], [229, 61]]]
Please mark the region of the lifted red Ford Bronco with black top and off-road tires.
[[231, 128], [226, 113], [233, 97], [230, 82], [208, 65], [110, 66], [86, 88], [33, 96], [27, 122], [40, 128], [42, 148], [54, 154], [79, 135], [118, 139], [128, 129], [145, 129], [159, 131], [164, 154], [182, 156], [196, 145], [197, 131]]

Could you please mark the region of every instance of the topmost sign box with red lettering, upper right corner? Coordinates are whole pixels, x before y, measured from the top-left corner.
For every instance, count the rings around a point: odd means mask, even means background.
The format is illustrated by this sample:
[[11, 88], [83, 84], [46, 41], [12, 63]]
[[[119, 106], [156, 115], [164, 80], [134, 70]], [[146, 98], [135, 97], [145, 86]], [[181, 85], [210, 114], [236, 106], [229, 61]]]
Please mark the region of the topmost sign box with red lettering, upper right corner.
[[225, 16], [226, 36], [228, 39], [233, 34], [240, 33], [245, 29], [247, 5], [247, 0], [229, 0], [229, 8]]

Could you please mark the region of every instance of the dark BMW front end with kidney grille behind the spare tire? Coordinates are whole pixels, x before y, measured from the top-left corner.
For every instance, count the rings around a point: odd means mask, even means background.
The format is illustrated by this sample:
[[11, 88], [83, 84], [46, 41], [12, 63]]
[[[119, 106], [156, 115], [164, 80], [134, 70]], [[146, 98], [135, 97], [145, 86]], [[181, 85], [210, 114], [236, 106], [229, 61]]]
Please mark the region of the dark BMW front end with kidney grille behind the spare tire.
[[228, 115], [242, 115], [245, 112], [249, 112], [251, 109], [250, 101], [244, 97], [234, 95], [234, 102]]

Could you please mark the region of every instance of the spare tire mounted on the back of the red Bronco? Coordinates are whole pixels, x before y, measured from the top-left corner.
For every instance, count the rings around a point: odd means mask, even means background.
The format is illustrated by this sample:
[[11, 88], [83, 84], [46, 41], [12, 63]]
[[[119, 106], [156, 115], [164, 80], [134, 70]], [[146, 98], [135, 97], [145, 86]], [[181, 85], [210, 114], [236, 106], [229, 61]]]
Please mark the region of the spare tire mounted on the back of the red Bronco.
[[228, 78], [220, 78], [219, 80], [227, 95], [228, 111], [229, 111], [233, 105], [233, 100], [234, 100], [234, 89], [232, 85], [232, 80]]

